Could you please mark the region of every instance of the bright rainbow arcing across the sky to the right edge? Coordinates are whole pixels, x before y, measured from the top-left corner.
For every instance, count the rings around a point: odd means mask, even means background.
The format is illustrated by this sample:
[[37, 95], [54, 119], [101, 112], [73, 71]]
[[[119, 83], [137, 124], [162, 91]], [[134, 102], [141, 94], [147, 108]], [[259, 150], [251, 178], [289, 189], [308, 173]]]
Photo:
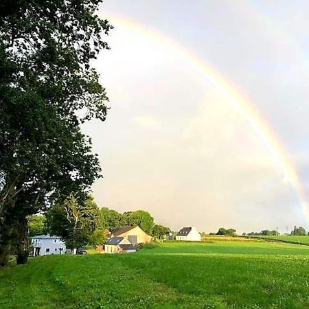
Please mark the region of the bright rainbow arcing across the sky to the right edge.
[[206, 78], [218, 90], [222, 98], [224, 98], [230, 106], [249, 123], [251, 128], [253, 128], [255, 133], [267, 146], [273, 161], [282, 171], [284, 180], [288, 181], [295, 190], [299, 198], [301, 209], [309, 225], [309, 208], [305, 190], [299, 181], [293, 162], [286, 150], [284, 150], [274, 130], [255, 107], [255, 104], [247, 98], [247, 95], [242, 93], [239, 89], [236, 89], [236, 87], [214, 69], [214, 67], [211, 67], [207, 62], [198, 58], [198, 56], [186, 49], [186, 47], [173, 41], [172, 38], [111, 12], [104, 12], [104, 14], [99, 12], [99, 15], [102, 15], [103, 18], [107, 18], [115, 27], [121, 25], [122, 27], [126, 27], [139, 34], [144, 34], [146, 37], [150, 37], [152, 40], [163, 44], [167, 49], [181, 56], [181, 58], [183, 58], [185, 62], [188, 62], [203, 78]]

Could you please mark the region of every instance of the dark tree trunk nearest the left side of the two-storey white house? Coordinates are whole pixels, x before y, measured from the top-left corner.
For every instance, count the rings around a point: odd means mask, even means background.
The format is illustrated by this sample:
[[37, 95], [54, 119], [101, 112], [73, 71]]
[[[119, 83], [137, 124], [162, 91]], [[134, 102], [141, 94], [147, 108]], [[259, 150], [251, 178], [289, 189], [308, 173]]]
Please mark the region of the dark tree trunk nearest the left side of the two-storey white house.
[[17, 227], [17, 264], [27, 264], [29, 256], [27, 218], [21, 218]]

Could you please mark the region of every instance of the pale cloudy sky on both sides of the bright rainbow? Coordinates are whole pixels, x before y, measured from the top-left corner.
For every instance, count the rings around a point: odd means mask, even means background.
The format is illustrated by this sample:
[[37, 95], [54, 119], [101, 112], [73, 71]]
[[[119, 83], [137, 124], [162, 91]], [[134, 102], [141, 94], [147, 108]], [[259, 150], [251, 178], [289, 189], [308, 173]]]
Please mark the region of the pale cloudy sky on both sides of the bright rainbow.
[[[111, 106], [83, 126], [100, 155], [100, 207], [145, 209], [172, 229], [308, 228], [268, 147], [162, 34], [247, 95], [308, 191], [309, 2], [106, 0], [115, 26], [95, 67]], [[117, 16], [115, 19], [114, 16]]]

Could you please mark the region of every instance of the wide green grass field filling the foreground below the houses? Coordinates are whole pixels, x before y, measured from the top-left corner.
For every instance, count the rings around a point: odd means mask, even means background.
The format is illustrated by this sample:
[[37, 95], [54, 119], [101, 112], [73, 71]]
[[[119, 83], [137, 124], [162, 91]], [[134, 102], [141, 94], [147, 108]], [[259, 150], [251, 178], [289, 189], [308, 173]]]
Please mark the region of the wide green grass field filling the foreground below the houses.
[[166, 242], [0, 270], [0, 308], [308, 308], [309, 247]]

